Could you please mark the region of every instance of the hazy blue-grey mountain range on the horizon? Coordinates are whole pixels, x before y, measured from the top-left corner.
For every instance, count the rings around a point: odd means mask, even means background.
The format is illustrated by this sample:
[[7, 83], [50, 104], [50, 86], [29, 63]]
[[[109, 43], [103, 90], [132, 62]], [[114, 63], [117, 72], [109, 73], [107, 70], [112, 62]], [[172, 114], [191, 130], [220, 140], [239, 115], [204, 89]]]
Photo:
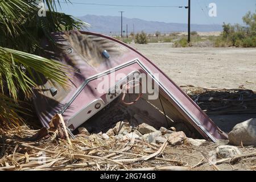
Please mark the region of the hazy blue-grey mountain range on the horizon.
[[[119, 16], [97, 16], [97, 15], [85, 15], [78, 17], [86, 23], [89, 23], [91, 27], [88, 31], [98, 32], [101, 34], [114, 34], [119, 35], [121, 31], [121, 18]], [[147, 32], [154, 33], [160, 31], [163, 33], [170, 32], [185, 32], [187, 31], [187, 24], [185, 23], [165, 23], [165, 22], [153, 22], [142, 20], [138, 18], [125, 18], [123, 17], [123, 30], [126, 31], [126, 24], [128, 24], [128, 32], [133, 32], [133, 26], [135, 32]], [[86, 29], [85, 29], [86, 30]], [[213, 32], [222, 31], [220, 24], [191, 24], [191, 31], [199, 32]]]

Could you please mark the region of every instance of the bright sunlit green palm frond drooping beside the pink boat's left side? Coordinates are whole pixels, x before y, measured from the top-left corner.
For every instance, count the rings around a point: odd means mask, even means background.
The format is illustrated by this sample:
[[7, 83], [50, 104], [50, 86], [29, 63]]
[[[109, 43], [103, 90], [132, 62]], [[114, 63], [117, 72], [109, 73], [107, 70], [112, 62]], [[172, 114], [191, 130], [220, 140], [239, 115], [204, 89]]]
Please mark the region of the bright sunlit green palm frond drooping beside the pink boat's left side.
[[[18, 99], [22, 92], [27, 98], [32, 96], [32, 87], [40, 82], [40, 74], [44, 75], [52, 84], [68, 86], [68, 69], [71, 69], [55, 60], [0, 47], [0, 84], [7, 86], [9, 95]], [[38, 73], [36, 76], [35, 73]], [[2, 93], [5, 90], [2, 89]]]

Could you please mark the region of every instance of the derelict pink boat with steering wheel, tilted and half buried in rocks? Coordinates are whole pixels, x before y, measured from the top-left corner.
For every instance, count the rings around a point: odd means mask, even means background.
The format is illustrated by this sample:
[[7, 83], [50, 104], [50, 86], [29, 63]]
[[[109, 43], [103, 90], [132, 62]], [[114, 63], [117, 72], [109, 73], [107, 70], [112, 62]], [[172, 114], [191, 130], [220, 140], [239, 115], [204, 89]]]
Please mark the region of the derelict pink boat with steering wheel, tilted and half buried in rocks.
[[209, 117], [156, 65], [135, 49], [108, 36], [67, 31], [45, 41], [45, 57], [71, 65], [68, 89], [45, 82], [35, 88], [34, 104], [42, 125], [61, 114], [70, 132], [85, 126], [105, 132], [126, 119], [175, 127], [192, 138], [227, 139]]

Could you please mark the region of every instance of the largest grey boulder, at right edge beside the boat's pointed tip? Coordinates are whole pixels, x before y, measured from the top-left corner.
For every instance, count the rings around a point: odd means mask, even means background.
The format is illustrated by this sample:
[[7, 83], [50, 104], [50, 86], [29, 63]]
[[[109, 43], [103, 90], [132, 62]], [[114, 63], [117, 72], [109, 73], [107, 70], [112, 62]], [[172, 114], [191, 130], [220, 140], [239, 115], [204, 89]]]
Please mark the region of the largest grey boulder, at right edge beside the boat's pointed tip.
[[229, 133], [229, 142], [236, 146], [256, 146], [256, 118], [237, 124]]

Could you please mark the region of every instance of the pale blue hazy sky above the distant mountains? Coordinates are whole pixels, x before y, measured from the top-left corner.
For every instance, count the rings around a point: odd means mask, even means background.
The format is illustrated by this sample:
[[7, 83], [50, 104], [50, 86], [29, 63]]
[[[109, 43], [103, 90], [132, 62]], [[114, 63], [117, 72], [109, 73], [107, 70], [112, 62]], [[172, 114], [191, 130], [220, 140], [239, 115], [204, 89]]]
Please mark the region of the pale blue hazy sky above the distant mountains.
[[[62, 1], [62, 0], [60, 0]], [[123, 16], [127, 18], [139, 18], [167, 23], [187, 23], [187, 9], [156, 8], [156, 7], [112, 7], [96, 5], [80, 5], [75, 3], [100, 3], [110, 5], [142, 5], [142, 6], [187, 6], [188, 0], [70, 0], [74, 4], [61, 3], [64, 13], [73, 16], [111, 15], [119, 16], [118, 11], [125, 11]], [[63, 1], [64, 2], [64, 1]], [[208, 15], [209, 3], [216, 3], [217, 17]], [[202, 10], [203, 9], [203, 10]], [[242, 16], [247, 11], [255, 12], [256, 0], [191, 0], [191, 23], [197, 24], [222, 24], [242, 23]]]

